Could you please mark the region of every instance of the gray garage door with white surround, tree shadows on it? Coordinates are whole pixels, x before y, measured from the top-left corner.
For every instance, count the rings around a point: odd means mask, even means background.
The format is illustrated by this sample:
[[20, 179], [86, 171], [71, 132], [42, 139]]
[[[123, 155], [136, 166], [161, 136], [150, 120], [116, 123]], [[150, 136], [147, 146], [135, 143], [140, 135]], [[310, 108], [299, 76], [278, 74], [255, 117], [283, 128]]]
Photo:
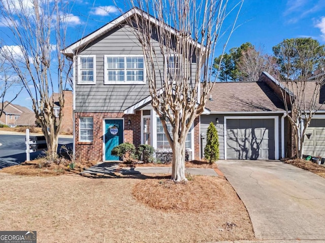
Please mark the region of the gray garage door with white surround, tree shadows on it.
[[278, 159], [278, 116], [225, 116], [226, 159]]

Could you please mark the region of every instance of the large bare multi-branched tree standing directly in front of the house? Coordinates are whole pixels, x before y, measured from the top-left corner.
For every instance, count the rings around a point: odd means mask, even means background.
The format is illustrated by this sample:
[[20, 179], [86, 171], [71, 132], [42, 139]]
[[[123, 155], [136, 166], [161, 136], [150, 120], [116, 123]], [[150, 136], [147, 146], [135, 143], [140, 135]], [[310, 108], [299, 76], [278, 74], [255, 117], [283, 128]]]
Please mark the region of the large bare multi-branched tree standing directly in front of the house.
[[[136, 14], [128, 24], [142, 46], [151, 104], [173, 152], [172, 179], [185, 181], [186, 135], [204, 111], [213, 87], [212, 56], [230, 6], [228, 1], [210, 0], [133, 0], [131, 4]], [[241, 5], [242, 1], [233, 6], [238, 10], [235, 23]]]

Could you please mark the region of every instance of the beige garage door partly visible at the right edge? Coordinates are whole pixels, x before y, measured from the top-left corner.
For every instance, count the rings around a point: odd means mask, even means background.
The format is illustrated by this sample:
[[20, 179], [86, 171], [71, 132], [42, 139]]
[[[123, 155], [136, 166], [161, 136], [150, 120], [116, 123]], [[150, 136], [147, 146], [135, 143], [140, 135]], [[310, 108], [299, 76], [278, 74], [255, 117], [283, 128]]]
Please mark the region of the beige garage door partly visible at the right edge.
[[325, 157], [325, 118], [313, 118], [306, 130], [304, 154]]

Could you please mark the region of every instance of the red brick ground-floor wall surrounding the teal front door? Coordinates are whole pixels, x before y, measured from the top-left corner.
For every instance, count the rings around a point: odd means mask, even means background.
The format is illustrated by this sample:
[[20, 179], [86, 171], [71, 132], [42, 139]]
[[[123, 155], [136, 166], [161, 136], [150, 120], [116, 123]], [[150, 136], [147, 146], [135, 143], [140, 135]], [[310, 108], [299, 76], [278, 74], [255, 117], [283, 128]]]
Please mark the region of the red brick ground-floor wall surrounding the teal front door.
[[[93, 141], [79, 141], [80, 117], [93, 117]], [[139, 146], [141, 142], [141, 113], [124, 114], [123, 112], [76, 112], [75, 113], [75, 155], [77, 159], [103, 161], [103, 124], [104, 118], [124, 118], [124, 142]], [[130, 119], [131, 124], [128, 125]]]

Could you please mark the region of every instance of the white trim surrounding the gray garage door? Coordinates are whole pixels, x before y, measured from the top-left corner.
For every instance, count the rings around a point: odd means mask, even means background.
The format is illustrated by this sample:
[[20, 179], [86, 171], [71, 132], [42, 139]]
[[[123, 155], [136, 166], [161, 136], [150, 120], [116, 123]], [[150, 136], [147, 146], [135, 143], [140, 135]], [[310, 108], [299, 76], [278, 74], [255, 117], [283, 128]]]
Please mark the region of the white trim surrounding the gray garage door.
[[279, 117], [278, 116], [224, 116], [223, 140], [224, 159], [227, 159], [227, 119], [274, 119], [274, 158], [279, 159]]

